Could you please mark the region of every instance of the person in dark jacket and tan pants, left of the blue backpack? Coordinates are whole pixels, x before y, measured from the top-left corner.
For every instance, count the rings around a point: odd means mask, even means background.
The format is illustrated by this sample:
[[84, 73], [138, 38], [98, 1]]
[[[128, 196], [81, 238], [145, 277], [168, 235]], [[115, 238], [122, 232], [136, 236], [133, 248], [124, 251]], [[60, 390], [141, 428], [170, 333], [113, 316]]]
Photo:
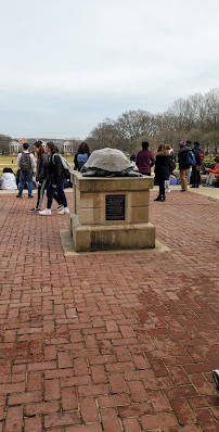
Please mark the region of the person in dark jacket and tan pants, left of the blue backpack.
[[192, 148], [186, 144], [185, 141], [180, 142], [180, 151], [178, 153], [179, 170], [180, 170], [180, 185], [181, 192], [188, 191], [188, 169], [192, 166], [192, 161], [189, 161], [190, 156], [194, 156]]

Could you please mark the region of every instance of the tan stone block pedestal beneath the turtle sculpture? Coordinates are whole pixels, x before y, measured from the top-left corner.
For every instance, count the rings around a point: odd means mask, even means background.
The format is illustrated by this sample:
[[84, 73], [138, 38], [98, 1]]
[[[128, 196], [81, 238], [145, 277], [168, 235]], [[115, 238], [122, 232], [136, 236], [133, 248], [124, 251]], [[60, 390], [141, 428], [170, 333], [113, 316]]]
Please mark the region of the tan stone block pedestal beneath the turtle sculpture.
[[155, 247], [149, 223], [150, 177], [82, 177], [73, 174], [69, 215], [76, 252]]

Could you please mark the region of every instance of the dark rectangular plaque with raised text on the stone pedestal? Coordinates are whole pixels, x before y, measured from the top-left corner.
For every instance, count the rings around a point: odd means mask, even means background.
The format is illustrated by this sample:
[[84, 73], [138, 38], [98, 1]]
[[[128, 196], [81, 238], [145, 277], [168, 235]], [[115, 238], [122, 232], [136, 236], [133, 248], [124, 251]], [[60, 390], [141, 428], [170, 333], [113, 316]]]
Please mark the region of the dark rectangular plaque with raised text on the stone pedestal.
[[106, 220], [125, 220], [126, 195], [105, 195]]

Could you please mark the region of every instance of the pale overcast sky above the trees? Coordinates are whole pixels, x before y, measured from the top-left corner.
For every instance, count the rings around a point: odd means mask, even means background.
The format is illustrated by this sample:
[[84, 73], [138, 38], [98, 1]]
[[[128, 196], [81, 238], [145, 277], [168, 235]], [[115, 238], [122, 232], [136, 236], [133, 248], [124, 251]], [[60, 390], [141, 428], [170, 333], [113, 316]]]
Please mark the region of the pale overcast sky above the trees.
[[0, 134], [85, 139], [219, 86], [219, 0], [0, 0]]

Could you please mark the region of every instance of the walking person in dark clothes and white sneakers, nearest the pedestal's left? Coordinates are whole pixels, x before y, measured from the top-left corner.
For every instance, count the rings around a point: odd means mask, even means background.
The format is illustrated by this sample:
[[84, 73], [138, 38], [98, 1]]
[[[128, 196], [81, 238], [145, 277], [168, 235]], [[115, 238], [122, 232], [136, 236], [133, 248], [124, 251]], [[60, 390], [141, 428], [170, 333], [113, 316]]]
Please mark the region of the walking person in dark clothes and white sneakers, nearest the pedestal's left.
[[47, 189], [47, 208], [39, 212], [41, 216], [51, 216], [51, 207], [54, 193], [56, 193], [60, 204], [63, 208], [57, 212], [59, 215], [69, 213], [67, 207], [67, 200], [64, 192], [64, 168], [62, 165], [62, 158], [59, 154], [59, 150], [53, 142], [48, 142], [46, 145], [46, 152], [49, 154], [49, 186]]

